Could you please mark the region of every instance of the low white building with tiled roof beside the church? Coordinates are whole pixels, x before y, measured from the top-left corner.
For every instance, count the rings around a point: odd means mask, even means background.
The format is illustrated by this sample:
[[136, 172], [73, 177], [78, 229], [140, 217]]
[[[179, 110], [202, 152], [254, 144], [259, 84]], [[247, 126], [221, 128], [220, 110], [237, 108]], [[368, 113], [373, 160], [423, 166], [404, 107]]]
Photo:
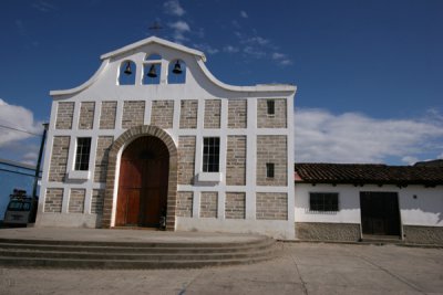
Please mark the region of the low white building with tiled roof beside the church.
[[296, 164], [296, 236], [443, 244], [443, 166]]

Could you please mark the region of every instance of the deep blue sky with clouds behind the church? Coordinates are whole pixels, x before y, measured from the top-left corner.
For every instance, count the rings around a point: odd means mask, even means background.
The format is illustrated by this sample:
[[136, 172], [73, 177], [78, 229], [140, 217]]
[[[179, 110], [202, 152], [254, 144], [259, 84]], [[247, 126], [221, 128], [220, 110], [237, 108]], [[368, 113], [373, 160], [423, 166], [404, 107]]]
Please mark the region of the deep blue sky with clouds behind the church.
[[[443, 158], [443, 1], [0, 2], [0, 125], [41, 133], [49, 91], [153, 34], [198, 49], [220, 81], [290, 83], [296, 160]], [[0, 128], [0, 158], [35, 162], [37, 136]]]

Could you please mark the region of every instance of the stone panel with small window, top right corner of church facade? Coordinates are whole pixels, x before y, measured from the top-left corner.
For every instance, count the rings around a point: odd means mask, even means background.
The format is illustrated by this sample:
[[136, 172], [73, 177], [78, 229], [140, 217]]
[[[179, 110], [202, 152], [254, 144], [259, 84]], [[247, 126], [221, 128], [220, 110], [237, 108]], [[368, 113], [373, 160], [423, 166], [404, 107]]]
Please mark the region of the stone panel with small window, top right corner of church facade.
[[272, 99], [275, 102], [275, 115], [268, 115], [268, 99], [257, 101], [257, 127], [258, 128], [286, 128], [287, 109], [286, 99]]

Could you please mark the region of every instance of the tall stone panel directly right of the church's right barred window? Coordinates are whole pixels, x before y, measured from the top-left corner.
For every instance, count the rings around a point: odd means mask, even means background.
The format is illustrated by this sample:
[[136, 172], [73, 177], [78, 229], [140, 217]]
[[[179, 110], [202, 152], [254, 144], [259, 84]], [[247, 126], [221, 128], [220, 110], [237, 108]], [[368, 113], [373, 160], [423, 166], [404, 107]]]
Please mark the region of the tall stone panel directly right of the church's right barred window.
[[246, 185], [246, 136], [228, 136], [226, 152], [226, 185]]

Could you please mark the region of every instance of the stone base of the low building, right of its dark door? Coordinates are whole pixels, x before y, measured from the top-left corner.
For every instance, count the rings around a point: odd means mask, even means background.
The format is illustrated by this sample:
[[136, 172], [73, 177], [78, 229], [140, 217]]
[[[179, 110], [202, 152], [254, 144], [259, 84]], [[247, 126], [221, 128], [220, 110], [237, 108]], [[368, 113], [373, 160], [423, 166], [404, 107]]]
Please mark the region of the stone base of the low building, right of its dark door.
[[406, 243], [443, 245], [443, 226], [403, 225], [403, 234]]

